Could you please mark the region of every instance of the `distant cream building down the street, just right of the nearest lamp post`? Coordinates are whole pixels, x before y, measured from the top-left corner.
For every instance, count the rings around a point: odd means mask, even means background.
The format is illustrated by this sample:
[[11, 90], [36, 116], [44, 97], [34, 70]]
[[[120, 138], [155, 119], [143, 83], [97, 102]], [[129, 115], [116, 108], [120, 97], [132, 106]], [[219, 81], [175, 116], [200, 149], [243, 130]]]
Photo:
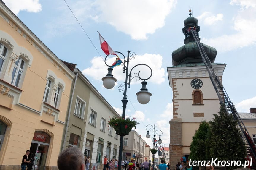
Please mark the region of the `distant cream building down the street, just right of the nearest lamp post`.
[[[146, 142], [135, 130], [131, 130], [129, 135], [124, 136], [123, 159], [135, 159], [138, 163], [143, 163], [146, 158]], [[149, 156], [147, 154], [147, 156]]]

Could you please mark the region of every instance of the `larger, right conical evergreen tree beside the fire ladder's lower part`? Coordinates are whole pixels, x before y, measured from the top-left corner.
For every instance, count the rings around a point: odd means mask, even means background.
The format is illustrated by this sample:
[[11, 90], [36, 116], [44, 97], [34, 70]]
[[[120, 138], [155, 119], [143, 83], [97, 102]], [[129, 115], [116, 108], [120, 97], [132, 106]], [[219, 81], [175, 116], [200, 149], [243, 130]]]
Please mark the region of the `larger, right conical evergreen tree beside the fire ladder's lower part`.
[[[219, 115], [214, 114], [214, 119], [209, 124], [208, 144], [211, 158], [243, 162], [246, 157], [246, 148], [241, 138], [241, 131], [237, 127], [238, 122], [232, 115], [226, 113], [224, 106], [220, 107]], [[227, 168], [234, 169], [237, 167]]]

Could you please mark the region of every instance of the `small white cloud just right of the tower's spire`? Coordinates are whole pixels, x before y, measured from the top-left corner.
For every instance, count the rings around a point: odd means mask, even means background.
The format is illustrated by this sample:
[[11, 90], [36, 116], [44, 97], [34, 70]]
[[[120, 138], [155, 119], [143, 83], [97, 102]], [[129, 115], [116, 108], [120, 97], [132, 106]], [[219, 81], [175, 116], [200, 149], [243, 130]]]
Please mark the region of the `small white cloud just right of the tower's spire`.
[[206, 25], [214, 25], [218, 21], [223, 20], [223, 14], [213, 15], [210, 12], [203, 12], [200, 16], [196, 17], [198, 20], [203, 20]]

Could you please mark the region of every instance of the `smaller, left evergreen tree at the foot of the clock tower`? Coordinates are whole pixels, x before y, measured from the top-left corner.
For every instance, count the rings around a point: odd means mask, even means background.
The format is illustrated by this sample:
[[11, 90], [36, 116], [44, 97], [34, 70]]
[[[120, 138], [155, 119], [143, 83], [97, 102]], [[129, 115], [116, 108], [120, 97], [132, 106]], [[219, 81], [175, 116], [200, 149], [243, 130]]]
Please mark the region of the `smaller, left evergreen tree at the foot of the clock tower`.
[[201, 122], [198, 130], [192, 138], [192, 143], [190, 144], [190, 155], [189, 159], [193, 160], [208, 160], [209, 150], [207, 139], [209, 136], [209, 123], [206, 121]]

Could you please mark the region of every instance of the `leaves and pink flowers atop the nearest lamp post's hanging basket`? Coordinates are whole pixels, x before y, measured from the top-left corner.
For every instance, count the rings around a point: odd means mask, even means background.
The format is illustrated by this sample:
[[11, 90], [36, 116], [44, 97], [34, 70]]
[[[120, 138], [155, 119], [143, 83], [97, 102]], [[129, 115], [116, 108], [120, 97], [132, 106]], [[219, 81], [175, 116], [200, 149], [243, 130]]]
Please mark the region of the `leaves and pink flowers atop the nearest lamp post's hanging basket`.
[[126, 117], [126, 118], [122, 118], [122, 117], [110, 117], [109, 116], [109, 121], [108, 121], [108, 124], [115, 128], [115, 127], [118, 127], [118, 125], [120, 124], [124, 124], [128, 127], [134, 127], [136, 129], [136, 125], [139, 124], [139, 122], [136, 121], [136, 118], [130, 118], [130, 117]]

